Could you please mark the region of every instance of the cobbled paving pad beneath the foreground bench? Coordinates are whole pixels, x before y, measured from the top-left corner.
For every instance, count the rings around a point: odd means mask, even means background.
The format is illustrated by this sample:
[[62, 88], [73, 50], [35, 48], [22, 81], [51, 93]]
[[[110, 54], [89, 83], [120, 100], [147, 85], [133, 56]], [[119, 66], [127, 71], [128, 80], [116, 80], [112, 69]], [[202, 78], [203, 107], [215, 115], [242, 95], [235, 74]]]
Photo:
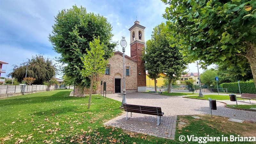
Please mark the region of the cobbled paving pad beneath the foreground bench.
[[[131, 116], [130, 112], [128, 116]], [[104, 125], [118, 127], [124, 130], [147, 134], [165, 139], [174, 140], [177, 116], [161, 116], [161, 123], [157, 125], [157, 116], [132, 113], [126, 120], [126, 113], [118, 116]]]

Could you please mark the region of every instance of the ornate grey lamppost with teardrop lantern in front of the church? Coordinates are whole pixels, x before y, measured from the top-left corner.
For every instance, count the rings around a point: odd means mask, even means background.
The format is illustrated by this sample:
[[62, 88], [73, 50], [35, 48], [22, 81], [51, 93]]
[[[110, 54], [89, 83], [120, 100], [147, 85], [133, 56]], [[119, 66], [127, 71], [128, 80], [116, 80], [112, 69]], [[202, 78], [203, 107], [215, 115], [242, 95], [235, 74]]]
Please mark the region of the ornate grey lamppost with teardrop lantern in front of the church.
[[[126, 43], [126, 41], [125, 41], [124, 38], [125, 38], [125, 37], [122, 36], [122, 40], [120, 41], [120, 44], [121, 44], [122, 49], [123, 49], [123, 58], [124, 58], [125, 47], [127, 46], [127, 43]], [[124, 61], [124, 60], [123, 60], [123, 61]], [[123, 70], [124, 70], [124, 73], [123, 73], [123, 75], [124, 75], [124, 76], [123, 76], [123, 81], [124, 81], [123, 87], [124, 87], [124, 89], [123, 89], [123, 100], [122, 100], [122, 104], [121, 104], [121, 107], [120, 107], [120, 108], [124, 108], [123, 103], [124, 103], [124, 104], [127, 103], [127, 102], [126, 102], [126, 98], [125, 98], [125, 94], [126, 94], [126, 91], [125, 91], [125, 67], [123, 67]]]

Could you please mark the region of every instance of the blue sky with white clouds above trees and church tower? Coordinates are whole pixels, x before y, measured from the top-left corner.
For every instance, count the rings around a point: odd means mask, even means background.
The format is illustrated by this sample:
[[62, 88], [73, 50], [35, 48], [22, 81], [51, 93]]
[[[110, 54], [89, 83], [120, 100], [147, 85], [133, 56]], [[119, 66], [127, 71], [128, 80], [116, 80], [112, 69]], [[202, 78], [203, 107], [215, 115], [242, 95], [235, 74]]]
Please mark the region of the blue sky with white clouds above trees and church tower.
[[[130, 56], [130, 31], [138, 20], [145, 28], [145, 42], [151, 38], [153, 28], [166, 20], [163, 18], [165, 5], [161, 0], [0, 0], [0, 61], [4, 77], [12, 72], [13, 65], [27, 62], [32, 56], [44, 55], [54, 63], [60, 54], [53, 50], [49, 41], [54, 16], [62, 9], [73, 5], [83, 6], [87, 12], [100, 14], [111, 24], [112, 40], [120, 42], [126, 37], [125, 54]], [[121, 51], [120, 44], [116, 51]], [[57, 62], [56, 62], [57, 63]], [[208, 68], [213, 68], [209, 66]], [[188, 65], [188, 72], [197, 72], [196, 63]], [[200, 68], [202, 73], [203, 69]], [[62, 75], [57, 75], [61, 78]]]

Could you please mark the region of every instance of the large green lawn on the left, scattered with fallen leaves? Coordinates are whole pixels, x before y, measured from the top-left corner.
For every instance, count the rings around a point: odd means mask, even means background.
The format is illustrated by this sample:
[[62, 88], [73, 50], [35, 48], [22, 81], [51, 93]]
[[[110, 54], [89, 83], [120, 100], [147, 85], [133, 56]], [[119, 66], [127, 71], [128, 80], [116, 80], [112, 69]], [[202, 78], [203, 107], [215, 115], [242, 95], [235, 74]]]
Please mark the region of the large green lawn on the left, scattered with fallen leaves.
[[69, 97], [71, 90], [55, 90], [0, 99], [0, 143], [175, 143], [105, 126], [123, 114], [121, 102], [92, 95]]

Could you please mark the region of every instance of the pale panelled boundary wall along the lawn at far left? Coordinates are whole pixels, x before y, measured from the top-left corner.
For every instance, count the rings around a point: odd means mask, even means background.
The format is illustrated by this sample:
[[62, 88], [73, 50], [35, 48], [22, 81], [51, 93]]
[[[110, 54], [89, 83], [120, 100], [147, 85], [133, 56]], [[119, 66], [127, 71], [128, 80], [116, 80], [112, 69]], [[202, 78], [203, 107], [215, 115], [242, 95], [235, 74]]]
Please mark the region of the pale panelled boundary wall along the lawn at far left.
[[[15, 94], [15, 93], [23, 93], [24, 85], [0, 85], [0, 94]], [[55, 90], [55, 86], [47, 86], [47, 85], [26, 85], [25, 93], [32, 93], [37, 91], [51, 91]]]

